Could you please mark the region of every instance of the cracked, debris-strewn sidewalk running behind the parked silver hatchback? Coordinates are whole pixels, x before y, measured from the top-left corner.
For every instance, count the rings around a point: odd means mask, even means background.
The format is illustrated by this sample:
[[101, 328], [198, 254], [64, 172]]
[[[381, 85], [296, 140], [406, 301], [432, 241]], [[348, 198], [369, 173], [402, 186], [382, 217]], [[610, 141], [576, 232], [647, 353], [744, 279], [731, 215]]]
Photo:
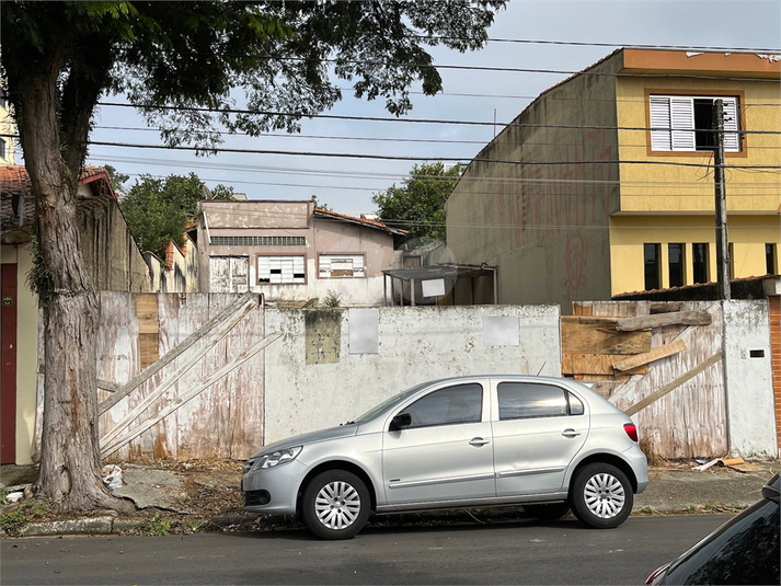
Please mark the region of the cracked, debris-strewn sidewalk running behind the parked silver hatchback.
[[[714, 466], [697, 472], [687, 463], [668, 462], [648, 470], [648, 487], [634, 497], [633, 515], [655, 514], [707, 514], [736, 512], [761, 498], [761, 487], [781, 470], [779, 460], [754, 460], [761, 471], [742, 473]], [[239, 490], [241, 462], [151, 462], [147, 466], [124, 464], [127, 484], [114, 494], [131, 499], [139, 509], [134, 518], [102, 515], [79, 519], [42, 519], [15, 527], [12, 535], [21, 537], [55, 535], [108, 535], [128, 532], [153, 532], [153, 524], [166, 524], [171, 532], [192, 530], [267, 530], [297, 526], [289, 517], [266, 517], [245, 513], [243, 495]], [[34, 467], [3, 466], [0, 468], [0, 489], [19, 489], [33, 482], [37, 474]], [[9, 491], [10, 492], [10, 491]], [[23, 501], [21, 502], [23, 504]], [[5, 517], [19, 505], [3, 505]], [[467, 512], [478, 522], [507, 520], [517, 517], [519, 510], [492, 509], [481, 513]], [[376, 517], [378, 525], [392, 522], [424, 522], [437, 525], [459, 522], [469, 518], [463, 514], [414, 514]], [[483, 520], [482, 517], [485, 517]], [[150, 525], [151, 524], [151, 525]], [[3, 527], [7, 524], [3, 522]], [[150, 529], [151, 528], [151, 529]], [[189, 528], [189, 529], [186, 529]], [[7, 533], [3, 531], [2, 533]]]

